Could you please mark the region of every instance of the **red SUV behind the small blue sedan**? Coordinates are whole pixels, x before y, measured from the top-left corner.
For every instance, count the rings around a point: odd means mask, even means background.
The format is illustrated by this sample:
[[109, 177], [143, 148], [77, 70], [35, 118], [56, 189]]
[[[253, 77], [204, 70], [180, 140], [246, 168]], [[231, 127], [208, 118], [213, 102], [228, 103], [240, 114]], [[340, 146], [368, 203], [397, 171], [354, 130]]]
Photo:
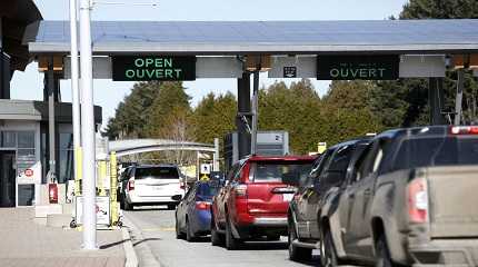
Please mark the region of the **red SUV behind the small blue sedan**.
[[313, 157], [252, 156], [232, 166], [212, 199], [211, 243], [236, 249], [243, 240], [287, 235], [287, 210]]

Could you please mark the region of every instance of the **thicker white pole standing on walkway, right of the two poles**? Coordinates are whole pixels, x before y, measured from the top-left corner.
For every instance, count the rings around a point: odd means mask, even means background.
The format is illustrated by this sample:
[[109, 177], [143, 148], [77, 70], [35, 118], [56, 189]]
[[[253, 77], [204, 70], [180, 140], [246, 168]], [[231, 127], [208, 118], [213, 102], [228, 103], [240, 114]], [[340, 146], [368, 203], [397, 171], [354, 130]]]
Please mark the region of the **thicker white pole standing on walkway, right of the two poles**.
[[82, 196], [83, 249], [97, 249], [94, 112], [91, 55], [90, 0], [80, 0], [80, 63], [81, 63], [81, 137], [82, 137]]

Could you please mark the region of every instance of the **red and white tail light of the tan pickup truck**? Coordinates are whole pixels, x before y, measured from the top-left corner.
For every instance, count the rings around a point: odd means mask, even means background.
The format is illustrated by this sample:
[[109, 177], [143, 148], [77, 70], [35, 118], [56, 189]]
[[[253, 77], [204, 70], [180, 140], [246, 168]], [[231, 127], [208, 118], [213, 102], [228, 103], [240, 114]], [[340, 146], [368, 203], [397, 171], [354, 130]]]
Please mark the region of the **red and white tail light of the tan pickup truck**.
[[428, 192], [425, 178], [415, 179], [408, 185], [408, 217], [410, 222], [428, 221]]

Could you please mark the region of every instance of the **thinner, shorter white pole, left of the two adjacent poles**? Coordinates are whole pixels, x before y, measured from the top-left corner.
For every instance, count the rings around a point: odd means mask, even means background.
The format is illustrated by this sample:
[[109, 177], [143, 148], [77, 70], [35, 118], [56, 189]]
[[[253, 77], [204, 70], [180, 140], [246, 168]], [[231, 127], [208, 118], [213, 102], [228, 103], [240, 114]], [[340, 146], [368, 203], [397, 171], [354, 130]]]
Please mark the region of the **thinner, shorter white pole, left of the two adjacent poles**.
[[73, 116], [73, 161], [74, 161], [74, 194], [78, 196], [80, 188], [80, 155], [81, 154], [81, 126], [80, 126], [80, 92], [78, 89], [78, 23], [77, 0], [70, 0], [70, 44], [71, 44], [71, 106]]

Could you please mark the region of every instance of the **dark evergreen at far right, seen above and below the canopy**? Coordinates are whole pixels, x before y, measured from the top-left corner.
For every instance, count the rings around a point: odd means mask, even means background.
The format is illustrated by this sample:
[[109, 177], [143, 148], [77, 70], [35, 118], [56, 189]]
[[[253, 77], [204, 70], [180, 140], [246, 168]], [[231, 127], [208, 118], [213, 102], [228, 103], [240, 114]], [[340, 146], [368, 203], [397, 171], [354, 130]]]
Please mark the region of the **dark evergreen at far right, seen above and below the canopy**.
[[[410, 0], [404, 6], [399, 19], [471, 19], [478, 18], [476, 0]], [[445, 105], [441, 111], [455, 111], [457, 86], [456, 71], [448, 71], [445, 79]], [[429, 123], [428, 81], [425, 79], [400, 79], [379, 81], [372, 93], [371, 110], [389, 127], [408, 127]], [[465, 123], [478, 120], [478, 85], [471, 73], [465, 76]]]

